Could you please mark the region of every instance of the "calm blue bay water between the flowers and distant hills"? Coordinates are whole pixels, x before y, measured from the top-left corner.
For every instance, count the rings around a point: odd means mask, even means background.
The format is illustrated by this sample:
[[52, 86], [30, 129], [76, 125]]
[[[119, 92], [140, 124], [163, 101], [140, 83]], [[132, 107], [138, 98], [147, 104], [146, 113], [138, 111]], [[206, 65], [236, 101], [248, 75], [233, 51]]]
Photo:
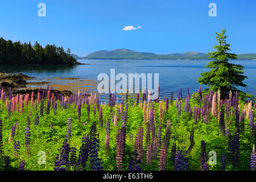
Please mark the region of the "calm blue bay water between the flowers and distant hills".
[[[36, 79], [29, 82], [47, 81], [53, 89], [71, 90], [78, 89], [88, 92], [97, 92], [97, 76], [106, 73], [110, 76], [110, 69], [115, 69], [115, 75], [125, 73], [159, 73], [160, 97], [170, 97], [171, 91], [175, 94], [183, 89], [184, 95], [197, 91], [199, 83], [196, 79], [200, 73], [208, 71], [204, 68], [208, 60], [79, 60], [80, 63], [90, 65], [0, 65], [0, 72], [19, 73], [34, 76]], [[235, 60], [234, 64], [243, 65], [246, 88], [242, 91], [256, 95], [256, 61]], [[79, 79], [67, 79], [79, 78]], [[154, 81], [154, 80], [153, 80]], [[43, 85], [30, 85], [28, 87], [46, 87]], [[206, 88], [205, 86], [202, 86]], [[101, 98], [107, 98], [107, 95]]]

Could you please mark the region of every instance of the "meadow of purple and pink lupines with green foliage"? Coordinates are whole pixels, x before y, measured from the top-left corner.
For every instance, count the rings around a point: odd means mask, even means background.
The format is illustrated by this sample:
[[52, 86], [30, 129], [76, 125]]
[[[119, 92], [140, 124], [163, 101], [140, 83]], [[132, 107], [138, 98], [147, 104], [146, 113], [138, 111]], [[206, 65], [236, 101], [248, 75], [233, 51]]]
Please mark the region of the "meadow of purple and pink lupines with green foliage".
[[109, 93], [105, 102], [95, 93], [0, 89], [0, 169], [256, 170], [255, 103], [201, 87], [183, 94]]

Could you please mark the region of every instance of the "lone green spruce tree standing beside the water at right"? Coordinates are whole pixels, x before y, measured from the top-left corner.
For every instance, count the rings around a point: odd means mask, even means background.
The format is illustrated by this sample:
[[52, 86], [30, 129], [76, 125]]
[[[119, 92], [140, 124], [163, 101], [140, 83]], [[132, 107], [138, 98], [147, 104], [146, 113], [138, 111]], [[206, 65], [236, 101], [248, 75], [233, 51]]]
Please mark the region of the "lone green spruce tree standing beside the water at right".
[[230, 44], [226, 43], [228, 36], [225, 33], [225, 29], [221, 29], [220, 33], [215, 32], [218, 45], [213, 47], [216, 51], [207, 54], [213, 61], [205, 66], [205, 68], [210, 68], [210, 71], [201, 73], [197, 82], [207, 85], [207, 90], [217, 92], [220, 89], [222, 99], [228, 98], [230, 90], [233, 93], [238, 92], [242, 98], [245, 98], [246, 94], [238, 90], [237, 86], [246, 87], [243, 80], [247, 77], [242, 75], [244, 72], [242, 65], [229, 63], [229, 60], [237, 59], [237, 55], [228, 53]]

